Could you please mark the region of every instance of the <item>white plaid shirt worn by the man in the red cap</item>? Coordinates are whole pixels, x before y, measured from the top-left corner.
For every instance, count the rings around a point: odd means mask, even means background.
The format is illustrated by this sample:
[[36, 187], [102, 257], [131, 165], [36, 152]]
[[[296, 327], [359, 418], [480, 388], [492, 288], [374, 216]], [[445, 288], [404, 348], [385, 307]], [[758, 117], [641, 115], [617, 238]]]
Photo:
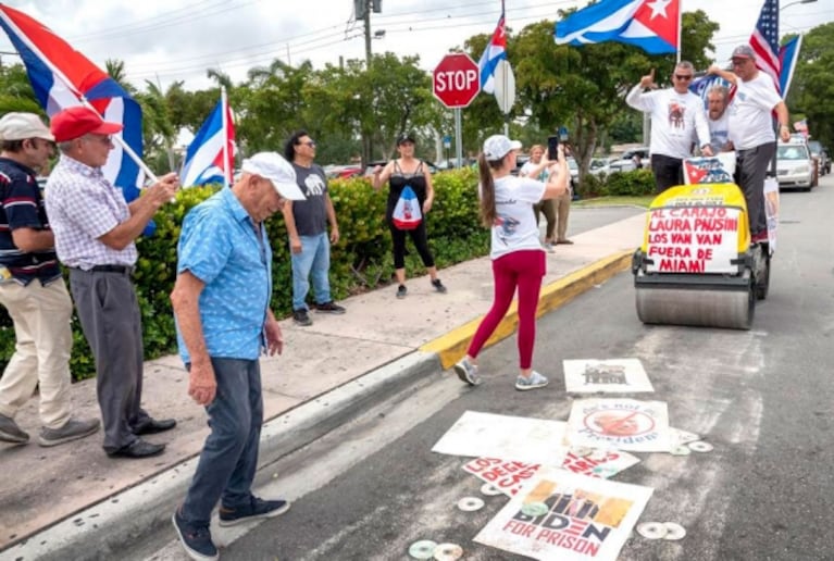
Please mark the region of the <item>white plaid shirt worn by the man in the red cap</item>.
[[45, 191], [58, 259], [64, 265], [89, 270], [136, 263], [133, 241], [120, 251], [98, 239], [130, 216], [122, 189], [111, 185], [101, 169], [61, 154]]

